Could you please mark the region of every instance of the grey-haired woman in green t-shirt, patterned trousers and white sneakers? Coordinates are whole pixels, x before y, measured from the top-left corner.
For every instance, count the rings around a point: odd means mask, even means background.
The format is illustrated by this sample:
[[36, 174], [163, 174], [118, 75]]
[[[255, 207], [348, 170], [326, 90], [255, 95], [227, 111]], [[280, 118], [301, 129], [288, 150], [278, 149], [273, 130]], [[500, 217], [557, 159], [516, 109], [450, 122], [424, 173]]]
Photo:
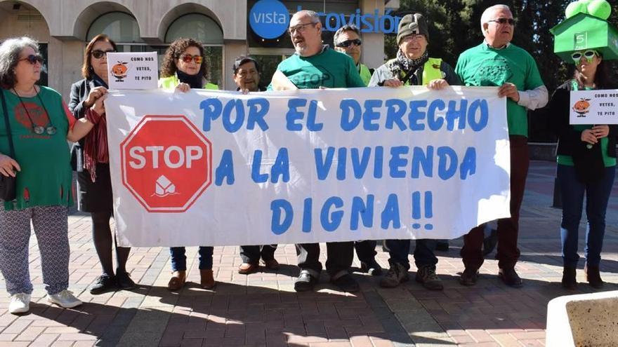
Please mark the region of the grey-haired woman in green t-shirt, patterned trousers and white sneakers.
[[42, 66], [37, 41], [19, 37], [0, 45], [0, 175], [15, 177], [15, 198], [0, 203], [0, 270], [10, 313], [29, 311], [31, 222], [47, 301], [64, 308], [81, 304], [67, 290], [67, 207], [73, 204], [67, 140], [81, 139], [100, 121], [103, 103], [76, 121], [58, 92], [35, 84]]

